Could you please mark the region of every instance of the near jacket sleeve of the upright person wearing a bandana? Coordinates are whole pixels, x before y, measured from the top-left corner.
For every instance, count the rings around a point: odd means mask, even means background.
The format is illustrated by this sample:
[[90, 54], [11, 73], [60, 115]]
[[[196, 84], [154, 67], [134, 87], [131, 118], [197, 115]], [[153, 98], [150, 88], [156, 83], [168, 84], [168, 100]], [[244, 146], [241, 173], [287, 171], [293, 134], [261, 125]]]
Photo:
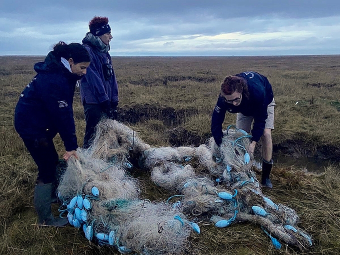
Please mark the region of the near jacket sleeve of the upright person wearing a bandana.
[[[86, 68], [84, 78], [89, 84], [88, 88], [100, 103], [109, 99], [104, 86], [105, 79], [102, 72], [102, 63], [99, 58], [95, 56], [93, 51], [89, 49], [89, 47], [86, 47], [86, 49], [90, 55], [91, 61], [89, 66]], [[86, 91], [84, 92], [86, 93]]]

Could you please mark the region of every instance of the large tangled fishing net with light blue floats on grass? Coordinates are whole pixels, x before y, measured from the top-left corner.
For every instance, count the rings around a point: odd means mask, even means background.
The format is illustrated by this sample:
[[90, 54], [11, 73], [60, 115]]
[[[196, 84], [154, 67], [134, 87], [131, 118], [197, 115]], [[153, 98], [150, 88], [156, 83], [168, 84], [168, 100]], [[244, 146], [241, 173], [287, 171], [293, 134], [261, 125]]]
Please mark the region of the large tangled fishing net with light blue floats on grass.
[[[200, 232], [197, 219], [216, 227], [251, 221], [276, 248], [281, 241], [311, 246], [294, 209], [262, 194], [247, 153], [249, 137], [230, 125], [219, 147], [210, 138], [198, 147], [156, 148], [122, 123], [104, 119], [92, 145], [67, 163], [58, 186], [60, 216], [82, 227], [87, 239], [122, 253], [180, 253], [191, 232]], [[141, 198], [138, 180], [128, 174], [131, 158], [157, 186], [176, 195], [163, 202]]]

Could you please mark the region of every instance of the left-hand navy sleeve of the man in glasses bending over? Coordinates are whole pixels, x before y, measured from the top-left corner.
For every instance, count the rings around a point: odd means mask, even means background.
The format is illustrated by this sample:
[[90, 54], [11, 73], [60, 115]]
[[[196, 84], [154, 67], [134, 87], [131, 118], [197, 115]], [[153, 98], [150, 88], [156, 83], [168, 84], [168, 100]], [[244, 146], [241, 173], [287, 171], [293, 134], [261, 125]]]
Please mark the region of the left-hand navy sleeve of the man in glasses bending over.
[[215, 140], [218, 146], [220, 146], [222, 143], [223, 138], [222, 124], [224, 121], [225, 112], [226, 107], [224, 103], [224, 98], [222, 96], [219, 96], [211, 117], [211, 133], [213, 139]]

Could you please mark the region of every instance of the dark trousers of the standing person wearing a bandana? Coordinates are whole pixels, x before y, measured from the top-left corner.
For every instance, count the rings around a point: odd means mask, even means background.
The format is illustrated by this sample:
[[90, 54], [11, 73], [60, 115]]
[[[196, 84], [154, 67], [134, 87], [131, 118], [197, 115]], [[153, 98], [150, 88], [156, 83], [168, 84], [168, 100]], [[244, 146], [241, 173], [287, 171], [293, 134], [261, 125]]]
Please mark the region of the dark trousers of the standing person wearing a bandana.
[[84, 106], [86, 127], [85, 127], [84, 142], [83, 142], [82, 147], [88, 148], [92, 143], [93, 135], [95, 132], [95, 126], [98, 124], [101, 117], [103, 116], [103, 112], [101, 111], [99, 104], [84, 103], [83, 106]]

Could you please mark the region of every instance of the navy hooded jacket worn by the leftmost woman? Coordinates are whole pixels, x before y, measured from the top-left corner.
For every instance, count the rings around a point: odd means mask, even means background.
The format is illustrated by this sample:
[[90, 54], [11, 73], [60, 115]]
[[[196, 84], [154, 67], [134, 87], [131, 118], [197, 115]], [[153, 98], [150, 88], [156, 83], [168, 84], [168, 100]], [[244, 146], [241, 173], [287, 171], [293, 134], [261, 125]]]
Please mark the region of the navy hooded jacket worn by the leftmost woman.
[[59, 133], [66, 151], [78, 147], [73, 119], [73, 95], [81, 76], [71, 73], [50, 51], [34, 65], [37, 74], [20, 94], [14, 127], [22, 138], [45, 138], [46, 129]]

